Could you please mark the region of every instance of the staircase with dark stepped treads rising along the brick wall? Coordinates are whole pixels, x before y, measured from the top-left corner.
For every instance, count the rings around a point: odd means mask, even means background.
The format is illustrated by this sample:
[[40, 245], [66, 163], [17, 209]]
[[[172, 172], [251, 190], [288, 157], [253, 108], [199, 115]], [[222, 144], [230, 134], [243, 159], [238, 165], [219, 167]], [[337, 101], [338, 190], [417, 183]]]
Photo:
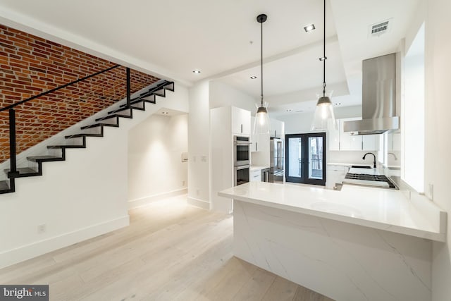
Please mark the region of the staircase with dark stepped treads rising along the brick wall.
[[[89, 75], [89, 76], [95, 76]], [[88, 78], [88, 77], [87, 77]], [[81, 79], [84, 80], [84, 79]], [[80, 82], [78, 80], [77, 82]], [[68, 84], [70, 85], [70, 84]], [[68, 85], [65, 85], [67, 87]], [[174, 82], [169, 82], [166, 80], [162, 80], [156, 83], [156, 85], [152, 85], [147, 88], [145, 92], [142, 92], [137, 97], [130, 97], [130, 70], [128, 70], [128, 82], [127, 82], [127, 99], [125, 103], [120, 104], [116, 109], [109, 111], [105, 116], [101, 118], [97, 118], [94, 123], [82, 126], [80, 128], [80, 133], [76, 133], [74, 135], [65, 136], [65, 140], [67, 144], [64, 145], [48, 145], [48, 153], [42, 156], [28, 156], [27, 161], [31, 164], [30, 166], [35, 166], [34, 168], [26, 167], [26, 168], [16, 168], [16, 137], [15, 137], [15, 128], [11, 127], [11, 123], [15, 123], [14, 118], [14, 110], [13, 107], [18, 104], [23, 104], [25, 101], [19, 102], [17, 104], [13, 104], [8, 106], [1, 111], [5, 111], [6, 109], [10, 110], [10, 147], [11, 149], [11, 168], [5, 169], [4, 172], [8, 180], [0, 180], [0, 194], [11, 193], [16, 191], [16, 179], [24, 178], [24, 177], [34, 177], [34, 176], [42, 176], [42, 164], [44, 162], [53, 162], [53, 161], [65, 161], [66, 160], [66, 149], [84, 149], [87, 145], [87, 137], [103, 137], [104, 136], [104, 128], [105, 127], [119, 127], [120, 118], [133, 118], [133, 111], [140, 110], [145, 111], [146, 103], [155, 104], [156, 97], [166, 97], [166, 90], [174, 91]], [[63, 86], [61, 86], [63, 87]], [[58, 88], [44, 92], [43, 94], [54, 92], [58, 90]], [[40, 95], [43, 95], [40, 94]], [[36, 98], [36, 97], [34, 97]], [[32, 98], [32, 99], [34, 99]], [[12, 112], [11, 112], [12, 111]], [[12, 134], [11, 134], [12, 133]]]

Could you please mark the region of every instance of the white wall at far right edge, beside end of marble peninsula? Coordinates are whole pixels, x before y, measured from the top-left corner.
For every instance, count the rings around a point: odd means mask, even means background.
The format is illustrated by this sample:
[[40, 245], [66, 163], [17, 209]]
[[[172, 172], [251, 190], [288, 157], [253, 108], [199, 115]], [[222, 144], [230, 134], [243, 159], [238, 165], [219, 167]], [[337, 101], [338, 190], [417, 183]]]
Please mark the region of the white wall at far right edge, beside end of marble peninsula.
[[448, 213], [447, 242], [434, 242], [432, 296], [435, 301], [451, 300], [451, 1], [425, 0], [426, 13], [426, 128], [425, 174], [426, 195], [433, 185], [433, 202]]

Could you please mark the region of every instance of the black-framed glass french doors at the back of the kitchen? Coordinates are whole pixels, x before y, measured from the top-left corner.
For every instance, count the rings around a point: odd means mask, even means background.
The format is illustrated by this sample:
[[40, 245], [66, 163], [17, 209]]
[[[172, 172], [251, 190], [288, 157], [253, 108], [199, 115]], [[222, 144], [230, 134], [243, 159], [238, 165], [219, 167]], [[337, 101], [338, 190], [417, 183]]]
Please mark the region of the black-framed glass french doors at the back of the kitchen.
[[285, 135], [285, 179], [326, 185], [326, 133]]

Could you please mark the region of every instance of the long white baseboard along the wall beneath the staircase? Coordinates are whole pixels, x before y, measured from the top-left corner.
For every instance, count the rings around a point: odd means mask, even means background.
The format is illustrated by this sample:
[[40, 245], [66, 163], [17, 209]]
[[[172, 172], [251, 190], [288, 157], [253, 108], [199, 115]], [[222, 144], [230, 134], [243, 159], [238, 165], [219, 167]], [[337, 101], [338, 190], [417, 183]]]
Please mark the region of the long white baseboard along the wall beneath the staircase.
[[94, 238], [96, 236], [109, 233], [111, 231], [123, 228], [130, 224], [129, 216], [122, 216], [118, 219], [98, 223], [87, 228], [82, 228], [77, 231], [54, 236], [38, 242], [33, 242], [30, 245], [24, 245], [13, 250], [0, 253], [0, 269], [18, 262], [23, 262], [27, 259], [37, 257], [48, 252], [73, 245], [74, 243]]

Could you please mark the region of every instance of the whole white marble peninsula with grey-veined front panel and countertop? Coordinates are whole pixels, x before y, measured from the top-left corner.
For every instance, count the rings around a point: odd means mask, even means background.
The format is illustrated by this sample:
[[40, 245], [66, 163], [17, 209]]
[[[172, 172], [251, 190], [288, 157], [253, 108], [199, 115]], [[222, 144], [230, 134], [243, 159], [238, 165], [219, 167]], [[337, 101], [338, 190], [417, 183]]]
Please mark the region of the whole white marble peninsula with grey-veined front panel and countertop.
[[431, 300], [432, 240], [446, 214], [424, 197], [251, 182], [234, 199], [236, 257], [335, 300]]

